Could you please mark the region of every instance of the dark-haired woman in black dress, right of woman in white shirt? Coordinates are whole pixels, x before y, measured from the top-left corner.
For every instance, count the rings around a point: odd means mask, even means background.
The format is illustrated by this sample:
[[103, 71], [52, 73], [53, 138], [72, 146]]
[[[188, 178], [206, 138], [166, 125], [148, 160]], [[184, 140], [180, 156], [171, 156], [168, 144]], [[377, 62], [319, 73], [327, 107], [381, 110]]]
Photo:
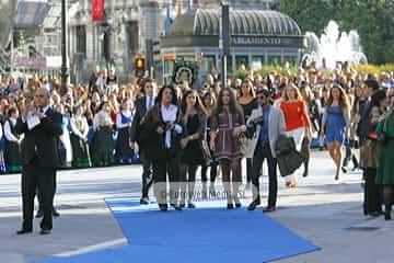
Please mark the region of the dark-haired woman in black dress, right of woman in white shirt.
[[[188, 90], [182, 99], [182, 122], [185, 127], [184, 138], [181, 140], [181, 207], [195, 208], [193, 204], [194, 188], [196, 184], [196, 171], [204, 161], [201, 152], [201, 139], [207, 128], [207, 117], [199, 106], [197, 92]], [[187, 193], [186, 193], [187, 186]]]

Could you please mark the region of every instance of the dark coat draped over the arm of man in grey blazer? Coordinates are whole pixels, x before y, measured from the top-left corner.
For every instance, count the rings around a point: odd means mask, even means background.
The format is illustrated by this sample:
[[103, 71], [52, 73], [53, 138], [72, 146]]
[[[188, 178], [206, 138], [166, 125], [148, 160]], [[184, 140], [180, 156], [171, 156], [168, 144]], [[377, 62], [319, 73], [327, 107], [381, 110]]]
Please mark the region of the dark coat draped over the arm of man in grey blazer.
[[280, 174], [287, 176], [300, 168], [303, 157], [296, 149], [296, 142], [292, 137], [280, 135], [276, 144], [276, 153]]

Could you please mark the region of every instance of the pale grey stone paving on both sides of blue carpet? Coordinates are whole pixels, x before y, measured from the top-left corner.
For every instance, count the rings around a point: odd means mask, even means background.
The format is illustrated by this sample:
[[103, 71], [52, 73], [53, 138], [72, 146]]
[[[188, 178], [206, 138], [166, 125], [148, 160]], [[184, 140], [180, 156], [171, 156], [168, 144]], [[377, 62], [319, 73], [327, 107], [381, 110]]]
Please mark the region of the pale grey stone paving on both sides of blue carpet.
[[[14, 235], [21, 224], [20, 176], [0, 176], [1, 262], [31, 262], [125, 244], [104, 197], [138, 195], [140, 173], [138, 165], [59, 172], [56, 206], [61, 217], [46, 237], [38, 235], [38, 221], [33, 235]], [[297, 188], [286, 190], [279, 181], [278, 210], [271, 216], [322, 250], [278, 263], [394, 262], [394, 221], [362, 215], [360, 172], [339, 182], [333, 178], [327, 153], [314, 152], [310, 176], [300, 179]], [[265, 194], [266, 181], [265, 176]], [[243, 202], [246, 205], [250, 199]]]

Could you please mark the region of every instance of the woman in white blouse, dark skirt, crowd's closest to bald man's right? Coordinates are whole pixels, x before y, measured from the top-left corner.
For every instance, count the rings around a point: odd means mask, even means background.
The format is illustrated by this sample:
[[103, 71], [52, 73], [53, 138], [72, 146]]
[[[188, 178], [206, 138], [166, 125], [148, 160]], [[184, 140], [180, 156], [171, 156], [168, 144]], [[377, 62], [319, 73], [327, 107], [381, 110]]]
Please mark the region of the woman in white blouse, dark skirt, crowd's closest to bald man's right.
[[70, 119], [70, 140], [72, 146], [72, 167], [89, 168], [92, 167], [88, 146], [89, 125], [86, 117], [83, 116], [81, 106], [76, 106]]

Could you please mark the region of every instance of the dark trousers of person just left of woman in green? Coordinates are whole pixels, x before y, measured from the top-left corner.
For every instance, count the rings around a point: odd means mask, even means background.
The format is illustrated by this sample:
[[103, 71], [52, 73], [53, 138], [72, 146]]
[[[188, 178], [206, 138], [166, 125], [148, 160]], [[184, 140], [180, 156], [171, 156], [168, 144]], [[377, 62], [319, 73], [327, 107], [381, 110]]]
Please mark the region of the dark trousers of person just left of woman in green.
[[382, 211], [382, 190], [381, 185], [375, 184], [376, 169], [367, 168], [364, 171], [364, 203], [366, 214]]

